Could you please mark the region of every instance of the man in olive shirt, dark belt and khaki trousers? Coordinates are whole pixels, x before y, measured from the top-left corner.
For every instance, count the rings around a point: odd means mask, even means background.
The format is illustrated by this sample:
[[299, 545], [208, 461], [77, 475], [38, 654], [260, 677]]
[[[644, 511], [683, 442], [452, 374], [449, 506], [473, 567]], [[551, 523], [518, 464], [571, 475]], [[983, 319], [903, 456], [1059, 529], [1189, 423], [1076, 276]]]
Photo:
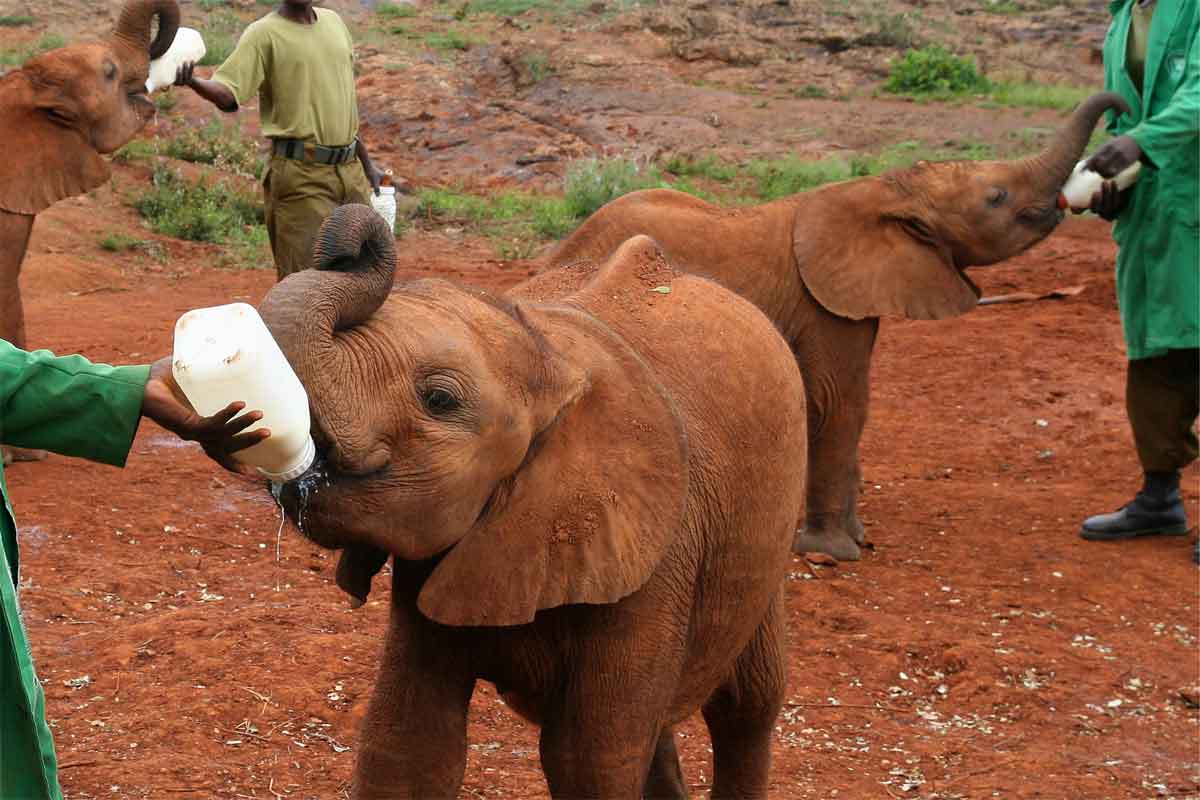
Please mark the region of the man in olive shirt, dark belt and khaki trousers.
[[347, 203], [370, 205], [383, 178], [358, 138], [350, 31], [312, 0], [283, 0], [246, 28], [211, 79], [193, 68], [181, 65], [175, 85], [223, 112], [258, 96], [271, 142], [263, 194], [276, 273], [282, 279], [307, 269], [325, 217]]

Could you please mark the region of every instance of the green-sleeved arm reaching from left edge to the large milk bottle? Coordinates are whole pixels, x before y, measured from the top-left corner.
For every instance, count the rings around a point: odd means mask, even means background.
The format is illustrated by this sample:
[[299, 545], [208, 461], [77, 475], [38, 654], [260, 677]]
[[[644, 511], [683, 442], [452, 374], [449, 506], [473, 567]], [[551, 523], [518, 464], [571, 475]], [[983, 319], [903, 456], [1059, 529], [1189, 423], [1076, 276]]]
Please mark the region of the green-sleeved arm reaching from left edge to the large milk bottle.
[[235, 403], [200, 417], [180, 399], [169, 375], [167, 359], [154, 366], [109, 367], [78, 355], [26, 353], [0, 339], [0, 441], [122, 467], [138, 422], [148, 416], [199, 441], [227, 469], [244, 471], [230, 456], [269, 435], [241, 433], [262, 415], [230, 421], [242, 408]]

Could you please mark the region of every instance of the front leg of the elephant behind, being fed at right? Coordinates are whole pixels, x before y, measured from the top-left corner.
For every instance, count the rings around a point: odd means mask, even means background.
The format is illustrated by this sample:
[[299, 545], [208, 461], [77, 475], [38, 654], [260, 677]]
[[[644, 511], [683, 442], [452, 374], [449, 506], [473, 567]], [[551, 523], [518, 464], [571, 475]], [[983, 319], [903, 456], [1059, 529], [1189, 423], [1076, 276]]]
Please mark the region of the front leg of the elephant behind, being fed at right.
[[858, 519], [858, 443], [866, 425], [878, 320], [828, 317], [797, 342], [809, 413], [809, 471], [804, 525], [792, 551], [857, 561], [865, 537]]

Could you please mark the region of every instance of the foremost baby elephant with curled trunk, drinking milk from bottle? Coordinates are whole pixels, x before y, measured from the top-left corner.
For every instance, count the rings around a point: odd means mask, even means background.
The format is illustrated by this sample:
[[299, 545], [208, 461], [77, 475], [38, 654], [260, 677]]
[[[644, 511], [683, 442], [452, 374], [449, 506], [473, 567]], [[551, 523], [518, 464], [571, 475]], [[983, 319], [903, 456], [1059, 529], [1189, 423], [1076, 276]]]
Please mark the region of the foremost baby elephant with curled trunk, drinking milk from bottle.
[[541, 726], [556, 798], [763, 798], [804, 391], [750, 302], [644, 236], [508, 296], [419, 281], [361, 205], [263, 301], [308, 389], [316, 467], [281, 489], [359, 601], [394, 558], [352, 796], [452, 798], [478, 680]]

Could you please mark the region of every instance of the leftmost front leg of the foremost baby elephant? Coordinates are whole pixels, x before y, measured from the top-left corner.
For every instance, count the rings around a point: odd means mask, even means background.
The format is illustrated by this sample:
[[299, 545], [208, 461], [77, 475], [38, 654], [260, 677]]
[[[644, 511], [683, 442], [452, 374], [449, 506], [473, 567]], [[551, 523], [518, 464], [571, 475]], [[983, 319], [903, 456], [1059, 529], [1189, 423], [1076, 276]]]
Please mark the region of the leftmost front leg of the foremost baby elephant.
[[379, 678], [359, 736], [353, 800], [454, 798], [467, 766], [467, 709], [475, 687], [462, 642], [391, 609]]

